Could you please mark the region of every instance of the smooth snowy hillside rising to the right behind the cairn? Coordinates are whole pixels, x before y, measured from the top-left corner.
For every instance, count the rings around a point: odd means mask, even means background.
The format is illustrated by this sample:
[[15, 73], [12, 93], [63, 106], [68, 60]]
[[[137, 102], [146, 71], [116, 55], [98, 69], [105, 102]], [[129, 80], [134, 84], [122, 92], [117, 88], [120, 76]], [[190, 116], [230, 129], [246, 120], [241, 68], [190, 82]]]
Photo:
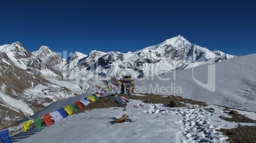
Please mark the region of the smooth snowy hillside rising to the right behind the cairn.
[[136, 79], [134, 90], [256, 111], [255, 61], [256, 54], [250, 54], [213, 65], [196, 65], [196, 68]]

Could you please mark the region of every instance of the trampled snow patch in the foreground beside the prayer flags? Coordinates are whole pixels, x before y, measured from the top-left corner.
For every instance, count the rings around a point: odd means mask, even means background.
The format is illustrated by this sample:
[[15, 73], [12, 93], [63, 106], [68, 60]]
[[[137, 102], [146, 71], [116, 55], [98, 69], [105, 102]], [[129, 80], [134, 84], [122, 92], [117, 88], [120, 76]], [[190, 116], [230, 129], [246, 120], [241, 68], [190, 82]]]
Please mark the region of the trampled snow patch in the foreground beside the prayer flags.
[[[135, 105], [135, 106], [134, 106]], [[190, 107], [190, 108], [188, 108]], [[207, 111], [213, 108], [214, 111]], [[111, 121], [129, 115], [131, 123]], [[245, 112], [247, 116], [255, 113]], [[221, 120], [228, 116], [224, 108], [187, 105], [169, 108], [162, 104], [145, 104], [133, 100], [122, 108], [92, 109], [45, 127], [36, 134], [14, 136], [14, 142], [225, 142], [220, 128], [234, 128], [239, 123]], [[256, 125], [240, 123], [241, 125]], [[29, 132], [29, 131], [28, 131]]]

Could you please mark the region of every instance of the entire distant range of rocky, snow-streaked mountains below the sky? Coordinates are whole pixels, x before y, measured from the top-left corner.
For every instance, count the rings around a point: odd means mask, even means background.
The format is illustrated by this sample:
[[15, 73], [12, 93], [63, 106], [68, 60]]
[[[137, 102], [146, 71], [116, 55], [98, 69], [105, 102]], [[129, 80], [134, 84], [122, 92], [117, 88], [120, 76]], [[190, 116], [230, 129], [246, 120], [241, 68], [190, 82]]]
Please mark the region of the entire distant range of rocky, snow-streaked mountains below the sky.
[[181, 35], [136, 52], [76, 52], [62, 59], [47, 46], [27, 51], [20, 42], [0, 46], [0, 128], [49, 104], [101, 87], [111, 77], [143, 78], [236, 56], [191, 44]]

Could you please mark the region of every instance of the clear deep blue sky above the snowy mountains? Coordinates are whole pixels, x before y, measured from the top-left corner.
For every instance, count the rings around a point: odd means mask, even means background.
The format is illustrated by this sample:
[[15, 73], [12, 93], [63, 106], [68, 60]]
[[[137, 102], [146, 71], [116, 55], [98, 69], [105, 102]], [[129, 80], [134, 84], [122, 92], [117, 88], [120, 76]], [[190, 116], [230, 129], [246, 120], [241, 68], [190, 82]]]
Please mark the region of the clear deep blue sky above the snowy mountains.
[[1, 1], [0, 45], [29, 51], [138, 51], [182, 35], [193, 44], [256, 53], [255, 0]]

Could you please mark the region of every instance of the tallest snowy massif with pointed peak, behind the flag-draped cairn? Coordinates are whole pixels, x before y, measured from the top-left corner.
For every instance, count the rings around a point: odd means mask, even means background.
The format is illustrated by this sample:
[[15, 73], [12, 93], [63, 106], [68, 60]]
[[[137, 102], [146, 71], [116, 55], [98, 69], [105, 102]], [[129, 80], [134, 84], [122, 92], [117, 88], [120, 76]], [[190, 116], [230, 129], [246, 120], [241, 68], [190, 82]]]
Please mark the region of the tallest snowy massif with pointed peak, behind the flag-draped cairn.
[[[183, 36], [178, 35], [171, 39], [166, 39], [160, 44], [145, 47], [136, 52], [119, 53], [111, 51], [103, 53], [94, 50], [85, 58], [76, 61], [75, 64], [72, 62], [75, 66], [71, 66], [68, 60], [66, 66], [62, 67], [69, 68], [69, 70], [74, 67], [73, 70], [81, 73], [81, 77], [94, 77], [96, 73], [99, 73], [100, 75], [114, 77], [124, 74], [141, 78], [156, 74], [155, 71], [148, 70], [154, 67], [163, 68], [165, 69], [163, 72], [166, 72], [178, 68], [182, 69], [180, 68], [181, 66], [186, 67], [190, 63], [201, 61], [218, 62], [233, 57], [229, 54], [214, 53], [205, 47], [192, 44]], [[65, 70], [63, 68], [62, 70]], [[67, 74], [66, 77], [70, 78], [70, 75]]]

